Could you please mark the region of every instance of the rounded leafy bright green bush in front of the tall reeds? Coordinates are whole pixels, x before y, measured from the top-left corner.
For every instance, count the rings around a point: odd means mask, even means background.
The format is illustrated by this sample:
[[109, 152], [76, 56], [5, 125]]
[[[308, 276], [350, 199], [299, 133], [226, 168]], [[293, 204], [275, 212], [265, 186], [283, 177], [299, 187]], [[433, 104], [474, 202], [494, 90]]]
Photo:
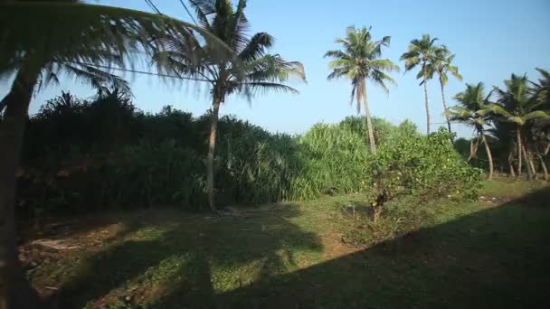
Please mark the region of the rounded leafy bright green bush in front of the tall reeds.
[[423, 200], [450, 196], [475, 199], [481, 171], [471, 168], [441, 128], [430, 136], [397, 136], [380, 147], [369, 166], [379, 185], [390, 193], [414, 194]]

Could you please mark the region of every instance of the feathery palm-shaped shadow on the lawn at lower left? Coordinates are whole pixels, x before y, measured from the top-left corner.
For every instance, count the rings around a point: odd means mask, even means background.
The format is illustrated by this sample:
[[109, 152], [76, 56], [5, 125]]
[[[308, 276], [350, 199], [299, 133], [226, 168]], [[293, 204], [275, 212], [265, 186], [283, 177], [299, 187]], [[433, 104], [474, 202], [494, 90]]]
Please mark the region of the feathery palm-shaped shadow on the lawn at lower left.
[[[213, 276], [223, 275], [211, 274], [214, 266], [238, 271], [250, 263], [261, 263], [258, 276], [270, 276], [293, 263], [294, 250], [322, 251], [315, 233], [291, 221], [297, 216], [299, 207], [289, 204], [272, 213], [242, 212], [219, 219], [197, 216], [182, 220], [182, 216], [158, 225], [151, 225], [150, 220], [126, 222], [128, 229], [121, 231], [122, 236], [88, 257], [62, 286], [60, 307], [81, 308], [109, 294], [118, 295], [108, 300], [114, 306], [147, 302], [159, 308], [171, 304], [177, 308], [213, 307], [213, 282], [220, 281]], [[225, 282], [244, 286], [250, 279], [250, 274], [245, 275], [225, 278]], [[135, 286], [141, 290], [132, 290]], [[121, 295], [129, 297], [121, 300]], [[164, 299], [174, 303], [166, 304]]]

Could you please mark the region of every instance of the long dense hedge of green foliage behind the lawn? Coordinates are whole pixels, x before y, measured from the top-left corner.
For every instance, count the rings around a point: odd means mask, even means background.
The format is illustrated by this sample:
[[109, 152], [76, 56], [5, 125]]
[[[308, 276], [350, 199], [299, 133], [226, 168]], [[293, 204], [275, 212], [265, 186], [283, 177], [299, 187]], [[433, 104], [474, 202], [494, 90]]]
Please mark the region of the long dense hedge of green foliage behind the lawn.
[[[208, 121], [208, 114], [192, 117], [171, 107], [141, 112], [117, 90], [91, 101], [63, 93], [29, 119], [19, 210], [199, 209], [206, 204]], [[359, 117], [318, 124], [303, 136], [222, 117], [219, 202], [308, 200], [380, 188], [439, 196], [475, 188], [478, 172], [452, 149], [448, 133], [421, 136], [409, 121], [394, 126], [375, 118], [374, 125], [378, 155], [366, 151]]]

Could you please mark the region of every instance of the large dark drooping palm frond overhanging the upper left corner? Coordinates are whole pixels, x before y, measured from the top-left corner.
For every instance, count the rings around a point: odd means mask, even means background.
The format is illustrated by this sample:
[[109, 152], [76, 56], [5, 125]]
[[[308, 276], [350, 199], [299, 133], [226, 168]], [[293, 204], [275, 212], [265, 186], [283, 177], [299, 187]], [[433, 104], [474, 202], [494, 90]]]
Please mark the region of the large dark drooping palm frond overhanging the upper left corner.
[[140, 59], [134, 51], [164, 51], [174, 38], [180, 44], [190, 43], [185, 50], [187, 56], [200, 59], [194, 56], [199, 51], [194, 33], [203, 35], [212, 48], [212, 57], [232, 57], [227, 45], [212, 34], [166, 15], [80, 3], [3, 2], [0, 75], [17, 70], [22, 63], [47, 68], [52, 61], [69, 66], [89, 63], [125, 67]]

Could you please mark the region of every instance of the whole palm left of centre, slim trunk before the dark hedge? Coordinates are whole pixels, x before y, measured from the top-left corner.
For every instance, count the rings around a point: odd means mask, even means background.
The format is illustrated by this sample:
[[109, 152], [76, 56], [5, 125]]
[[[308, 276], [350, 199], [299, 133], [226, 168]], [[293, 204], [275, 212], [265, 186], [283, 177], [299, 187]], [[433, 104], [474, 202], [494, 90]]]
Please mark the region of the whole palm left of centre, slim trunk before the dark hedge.
[[292, 77], [305, 80], [305, 73], [301, 63], [285, 61], [278, 54], [267, 53], [274, 42], [270, 34], [256, 33], [250, 38], [247, 36], [249, 23], [244, 14], [246, 0], [240, 0], [236, 7], [232, 6], [230, 0], [190, 0], [190, 3], [202, 29], [227, 44], [237, 55], [240, 65], [235, 65], [231, 58], [212, 57], [213, 48], [210, 44], [201, 45], [196, 42], [191, 46], [200, 55], [200, 64], [197, 66], [197, 59], [188, 56], [190, 45], [177, 40], [169, 43], [172, 46], [169, 51], [156, 53], [154, 59], [159, 64], [159, 70], [184, 78], [202, 79], [212, 87], [206, 176], [210, 209], [216, 211], [214, 155], [221, 104], [234, 93], [242, 94], [249, 100], [258, 91], [298, 93], [296, 89], [282, 83]]

